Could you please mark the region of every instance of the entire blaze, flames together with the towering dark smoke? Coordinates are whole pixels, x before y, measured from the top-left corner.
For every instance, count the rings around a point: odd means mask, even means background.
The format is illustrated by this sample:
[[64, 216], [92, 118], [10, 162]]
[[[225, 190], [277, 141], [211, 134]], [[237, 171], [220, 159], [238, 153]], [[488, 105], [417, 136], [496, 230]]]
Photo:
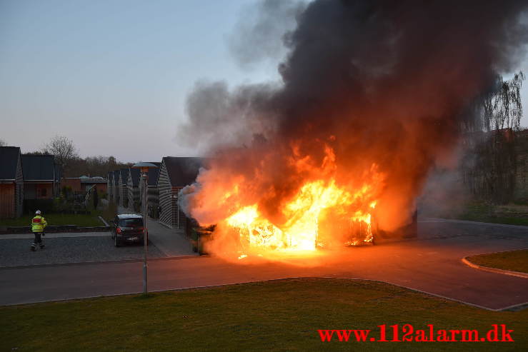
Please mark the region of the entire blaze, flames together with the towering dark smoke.
[[449, 159], [471, 119], [467, 106], [519, 57], [525, 9], [526, 1], [292, 5], [280, 84], [199, 84], [189, 96], [181, 135], [209, 141], [211, 159], [180, 203], [201, 225], [216, 224], [210, 251], [357, 245], [412, 223], [429, 170]]

